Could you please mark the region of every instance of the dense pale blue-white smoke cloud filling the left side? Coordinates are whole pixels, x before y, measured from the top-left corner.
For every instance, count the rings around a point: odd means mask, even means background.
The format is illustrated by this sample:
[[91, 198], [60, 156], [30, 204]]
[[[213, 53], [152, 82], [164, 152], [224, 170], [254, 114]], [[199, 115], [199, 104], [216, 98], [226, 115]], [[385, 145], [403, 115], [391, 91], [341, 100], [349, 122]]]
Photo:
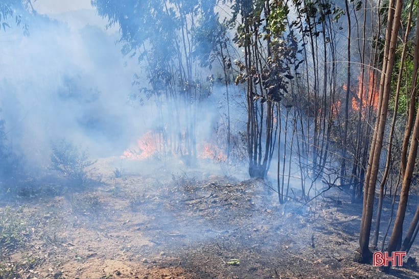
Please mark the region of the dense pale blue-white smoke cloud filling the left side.
[[32, 170], [62, 138], [94, 156], [121, 154], [141, 134], [141, 111], [127, 103], [133, 67], [118, 34], [40, 15], [30, 23], [30, 36], [12, 26], [0, 39], [0, 116], [13, 150]]

